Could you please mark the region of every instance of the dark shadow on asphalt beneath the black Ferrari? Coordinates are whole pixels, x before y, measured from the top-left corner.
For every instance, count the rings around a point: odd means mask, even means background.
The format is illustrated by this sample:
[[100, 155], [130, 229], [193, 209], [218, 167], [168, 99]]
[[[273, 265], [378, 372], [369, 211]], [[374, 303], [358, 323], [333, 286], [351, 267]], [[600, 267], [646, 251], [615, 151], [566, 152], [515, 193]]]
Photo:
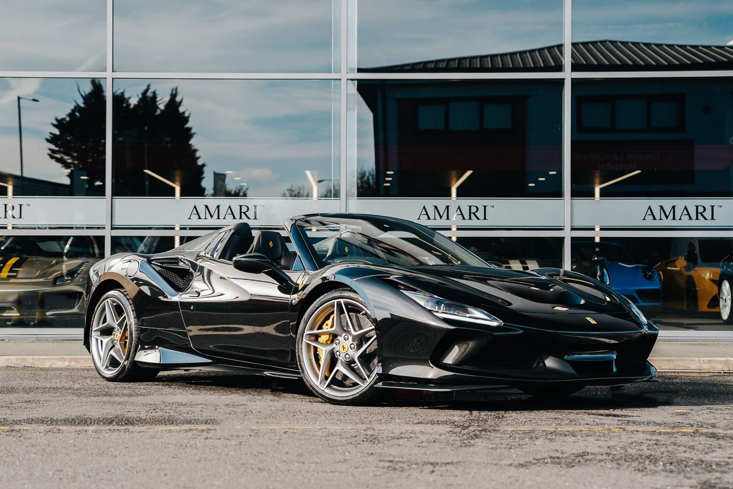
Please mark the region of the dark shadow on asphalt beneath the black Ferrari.
[[[279, 393], [315, 400], [301, 380], [237, 375], [219, 372], [167, 372], [155, 383], [176, 384], [221, 391]], [[532, 397], [517, 389], [490, 391], [432, 392], [384, 389], [374, 402], [385, 408], [420, 407], [468, 411], [604, 411], [657, 408], [663, 405], [725, 405], [733, 402], [733, 376], [662, 375], [659, 382], [625, 386], [589, 386], [563, 397]]]

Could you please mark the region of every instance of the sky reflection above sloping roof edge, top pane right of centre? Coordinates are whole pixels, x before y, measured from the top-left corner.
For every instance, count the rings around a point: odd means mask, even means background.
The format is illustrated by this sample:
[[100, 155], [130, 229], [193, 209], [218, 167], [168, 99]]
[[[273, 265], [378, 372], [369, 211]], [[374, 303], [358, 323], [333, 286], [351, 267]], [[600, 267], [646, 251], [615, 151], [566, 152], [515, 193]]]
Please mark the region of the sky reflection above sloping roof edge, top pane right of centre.
[[556, 45], [562, 21], [562, 0], [362, 0], [356, 66]]

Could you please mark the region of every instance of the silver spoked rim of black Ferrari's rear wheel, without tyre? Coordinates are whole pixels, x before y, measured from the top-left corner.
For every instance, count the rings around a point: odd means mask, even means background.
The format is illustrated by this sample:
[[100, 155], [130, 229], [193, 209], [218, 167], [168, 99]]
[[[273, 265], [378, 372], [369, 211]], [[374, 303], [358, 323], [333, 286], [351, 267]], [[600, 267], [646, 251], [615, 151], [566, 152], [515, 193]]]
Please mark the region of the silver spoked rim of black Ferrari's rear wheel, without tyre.
[[92, 359], [104, 375], [119, 372], [130, 343], [130, 322], [125, 307], [114, 297], [97, 306], [92, 324]]

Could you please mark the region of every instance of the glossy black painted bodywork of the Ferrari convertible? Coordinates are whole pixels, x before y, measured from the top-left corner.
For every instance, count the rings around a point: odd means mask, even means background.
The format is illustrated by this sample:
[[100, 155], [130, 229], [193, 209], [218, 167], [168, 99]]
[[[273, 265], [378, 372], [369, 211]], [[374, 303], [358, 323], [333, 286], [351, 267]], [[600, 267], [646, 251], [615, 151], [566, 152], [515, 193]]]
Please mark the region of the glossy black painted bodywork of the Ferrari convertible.
[[[585, 364], [578, 363], [576, 357], [592, 359], [589, 355], [596, 355], [603, 359], [627, 345], [646, 352], [646, 359], [658, 333], [653, 323], [638, 323], [613, 291], [587, 276], [554, 268], [513, 271], [353, 263], [317, 270], [295, 226], [300, 217], [285, 224], [305, 268], [285, 271], [290, 282], [237, 270], [231, 261], [218, 259], [213, 249], [216, 243], [210, 248], [183, 246], [155, 255], [117, 254], [98, 262], [87, 282], [85, 344], [89, 341], [89, 311], [106, 290], [122, 287], [136, 309], [141, 348], [195, 353], [213, 360], [213, 366], [207, 368], [246, 367], [248, 371], [292, 375], [297, 371], [295, 337], [306, 309], [324, 293], [349, 287], [364, 299], [377, 323], [378, 371], [384, 381], [455, 386], [553, 380], [592, 384], [644, 380], [655, 373], [648, 364], [635, 372], [583, 372]], [[185, 265], [188, 273], [181, 279], [185, 288], [176, 290], [158, 273], [151, 266], [156, 260]], [[139, 266], [131, 267], [137, 270], [128, 277], [131, 261]], [[178, 273], [181, 270], [177, 268]], [[400, 293], [399, 288], [482, 308], [504, 325], [441, 319]], [[554, 309], [557, 307], [567, 310]], [[507, 339], [542, 353], [548, 368], [537, 375], [517, 376], [469, 371], [460, 364], [479, 355], [487, 345]], [[458, 359], [457, 363], [446, 364], [445, 359], [456, 349], [460, 353], [452, 358]], [[572, 362], [575, 369], [569, 367]]]

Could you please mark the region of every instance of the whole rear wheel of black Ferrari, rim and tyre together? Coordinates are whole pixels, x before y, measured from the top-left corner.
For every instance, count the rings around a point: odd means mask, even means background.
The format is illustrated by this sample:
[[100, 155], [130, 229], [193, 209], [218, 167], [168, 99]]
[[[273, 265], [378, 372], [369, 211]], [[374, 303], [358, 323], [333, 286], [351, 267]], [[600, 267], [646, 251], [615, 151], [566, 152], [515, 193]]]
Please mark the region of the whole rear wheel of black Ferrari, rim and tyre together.
[[139, 345], [139, 326], [130, 296], [110, 290], [92, 316], [89, 349], [97, 373], [112, 382], [151, 380], [157, 369], [140, 367], [133, 359]]

